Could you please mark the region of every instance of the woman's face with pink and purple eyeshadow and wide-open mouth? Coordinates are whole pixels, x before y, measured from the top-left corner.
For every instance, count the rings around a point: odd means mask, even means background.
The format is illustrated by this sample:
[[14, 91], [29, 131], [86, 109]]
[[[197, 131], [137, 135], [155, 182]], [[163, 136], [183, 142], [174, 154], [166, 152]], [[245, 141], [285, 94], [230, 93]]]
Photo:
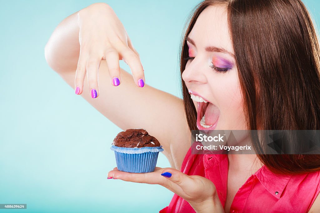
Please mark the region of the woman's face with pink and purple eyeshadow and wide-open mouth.
[[226, 8], [207, 7], [187, 44], [191, 59], [182, 79], [196, 106], [199, 130], [247, 129]]

